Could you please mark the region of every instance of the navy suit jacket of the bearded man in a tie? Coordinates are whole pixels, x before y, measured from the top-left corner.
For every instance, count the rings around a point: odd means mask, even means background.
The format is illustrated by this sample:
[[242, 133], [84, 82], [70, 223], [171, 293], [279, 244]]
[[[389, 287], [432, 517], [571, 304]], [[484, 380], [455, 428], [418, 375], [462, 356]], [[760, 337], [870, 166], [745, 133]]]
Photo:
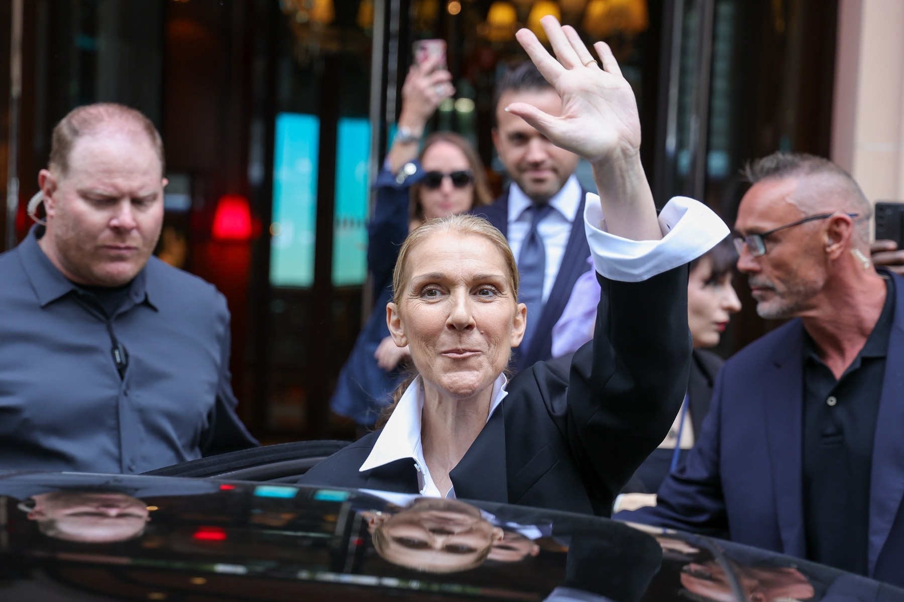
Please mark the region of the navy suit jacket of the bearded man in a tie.
[[[508, 238], [508, 189], [496, 201], [485, 207], [474, 210], [476, 215], [485, 217], [490, 223]], [[571, 290], [578, 277], [590, 267], [587, 258], [590, 257], [590, 248], [587, 244], [587, 235], [584, 232], [584, 203], [587, 200], [587, 191], [581, 187], [580, 204], [575, 220], [571, 222], [571, 235], [565, 246], [565, 254], [559, 272], [556, 275], [552, 291], [543, 306], [539, 318], [540, 323], [531, 339], [527, 349], [515, 347], [513, 351], [514, 369], [521, 372], [536, 362], [549, 360], [552, 354], [552, 326], [556, 325], [562, 315], [562, 311], [568, 304]]]

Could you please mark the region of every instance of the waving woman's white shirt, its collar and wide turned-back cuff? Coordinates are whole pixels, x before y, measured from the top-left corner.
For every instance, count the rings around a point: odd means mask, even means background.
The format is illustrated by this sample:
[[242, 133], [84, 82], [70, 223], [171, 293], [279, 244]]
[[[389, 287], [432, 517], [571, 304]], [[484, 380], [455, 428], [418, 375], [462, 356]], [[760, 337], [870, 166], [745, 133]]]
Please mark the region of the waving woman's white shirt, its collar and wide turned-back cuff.
[[[611, 280], [623, 282], [639, 282], [688, 263], [712, 249], [729, 233], [725, 223], [709, 207], [686, 197], [675, 197], [659, 213], [662, 240], [623, 239], [606, 231], [599, 197], [593, 193], [587, 195], [584, 228], [587, 231], [590, 256], [597, 271]], [[500, 374], [494, 381], [487, 420], [508, 395], [505, 390], [507, 382], [504, 374]], [[371, 470], [396, 460], [411, 458], [418, 470], [420, 493], [442, 497], [424, 461], [424, 450], [420, 442], [420, 415], [423, 407], [424, 393], [418, 377], [402, 395], [359, 470]], [[450, 488], [446, 496], [455, 497], [455, 487]]]

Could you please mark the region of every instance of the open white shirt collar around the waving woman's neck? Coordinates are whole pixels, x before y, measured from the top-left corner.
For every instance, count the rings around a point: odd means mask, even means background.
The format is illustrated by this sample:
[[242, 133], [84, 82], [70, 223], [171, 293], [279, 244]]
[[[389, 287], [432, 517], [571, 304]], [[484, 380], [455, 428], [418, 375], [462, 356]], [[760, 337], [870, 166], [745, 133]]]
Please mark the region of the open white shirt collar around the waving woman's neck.
[[[505, 390], [506, 384], [508, 379], [505, 378], [505, 374], [500, 374], [494, 381], [493, 400], [490, 402], [487, 420], [493, 416], [495, 409], [508, 395], [508, 391]], [[424, 462], [423, 447], [420, 445], [420, 414], [423, 409], [424, 389], [418, 376], [402, 394], [380, 437], [377, 437], [376, 443], [373, 444], [370, 455], [358, 470], [360, 472], [372, 470], [405, 458]]]

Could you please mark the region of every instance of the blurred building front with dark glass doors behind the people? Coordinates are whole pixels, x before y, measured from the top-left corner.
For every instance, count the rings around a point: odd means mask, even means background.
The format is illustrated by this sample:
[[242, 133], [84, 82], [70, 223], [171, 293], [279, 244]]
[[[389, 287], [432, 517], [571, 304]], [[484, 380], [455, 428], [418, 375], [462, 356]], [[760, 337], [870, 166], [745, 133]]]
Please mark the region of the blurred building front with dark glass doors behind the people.
[[[455, 90], [425, 136], [452, 131], [474, 146], [492, 197], [507, 182], [494, 87], [523, 58], [514, 29], [541, 32], [542, 14], [612, 45], [636, 92], [657, 203], [686, 194], [731, 224], [740, 167], [776, 150], [833, 158], [871, 201], [901, 196], [895, 2], [9, 0], [0, 10], [0, 249], [24, 237], [63, 115], [94, 101], [141, 110], [166, 147], [157, 254], [226, 296], [240, 418], [265, 441], [354, 433], [328, 406], [377, 301], [371, 183], [416, 40], [446, 40]], [[587, 165], [575, 173], [592, 187]], [[743, 303], [716, 347], [723, 356], [772, 327], [736, 285]]]

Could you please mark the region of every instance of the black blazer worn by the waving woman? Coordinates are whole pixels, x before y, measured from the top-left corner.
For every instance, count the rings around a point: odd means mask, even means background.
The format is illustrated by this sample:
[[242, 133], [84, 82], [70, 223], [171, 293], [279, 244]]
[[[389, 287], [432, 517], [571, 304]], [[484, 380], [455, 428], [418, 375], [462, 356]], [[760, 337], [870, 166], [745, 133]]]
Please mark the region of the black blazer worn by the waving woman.
[[[691, 360], [687, 268], [636, 283], [598, 280], [594, 340], [575, 353], [570, 374], [539, 362], [509, 381], [508, 396], [450, 474], [457, 497], [608, 516], [665, 437]], [[358, 470], [380, 433], [330, 456], [300, 483], [417, 494], [410, 458]]]

